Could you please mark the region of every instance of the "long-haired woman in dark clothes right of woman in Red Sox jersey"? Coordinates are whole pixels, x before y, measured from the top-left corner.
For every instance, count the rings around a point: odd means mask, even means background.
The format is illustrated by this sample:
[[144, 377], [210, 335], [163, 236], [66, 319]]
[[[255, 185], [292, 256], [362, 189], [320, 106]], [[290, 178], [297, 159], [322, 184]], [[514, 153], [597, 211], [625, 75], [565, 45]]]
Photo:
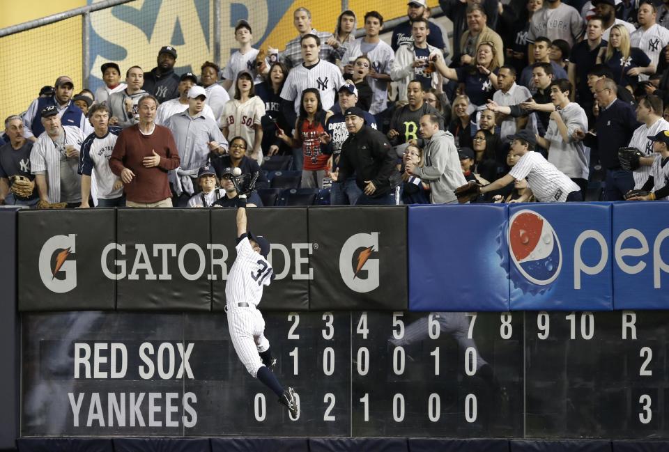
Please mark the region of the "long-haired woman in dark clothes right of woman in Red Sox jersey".
[[286, 143], [277, 138], [277, 130], [289, 130], [291, 125], [281, 114], [281, 90], [288, 77], [288, 68], [277, 61], [270, 66], [266, 81], [255, 86], [256, 95], [265, 102], [265, 116], [261, 120], [263, 141], [261, 147], [267, 155], [285, 155], [290, 153]]

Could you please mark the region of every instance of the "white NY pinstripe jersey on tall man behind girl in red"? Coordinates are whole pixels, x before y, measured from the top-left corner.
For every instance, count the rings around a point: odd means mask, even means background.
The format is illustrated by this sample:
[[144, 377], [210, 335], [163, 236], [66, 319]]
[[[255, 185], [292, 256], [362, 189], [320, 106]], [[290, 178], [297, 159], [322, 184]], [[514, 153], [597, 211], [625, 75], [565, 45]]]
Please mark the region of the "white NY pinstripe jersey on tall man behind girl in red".
[[307, 88], [316, 88], [321, 93], [323, 110], [329, 110], [337, 98], [337, 90], [344, 84], [341, 70], [328, 61], [319, 60], [311, 68], [300, 64], [288, 73], [288, 78], [281, 91], [281, 98], [295, 104], [295, 114], [300, 114], [300, 99], [302, 91]]

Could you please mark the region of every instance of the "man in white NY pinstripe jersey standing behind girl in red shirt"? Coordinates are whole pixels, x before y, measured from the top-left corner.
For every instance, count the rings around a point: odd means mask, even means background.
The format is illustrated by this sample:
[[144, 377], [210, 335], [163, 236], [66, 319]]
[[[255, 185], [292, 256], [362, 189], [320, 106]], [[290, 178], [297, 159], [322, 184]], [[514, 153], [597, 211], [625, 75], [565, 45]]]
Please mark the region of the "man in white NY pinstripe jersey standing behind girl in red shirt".
[[[344, 84], [344, 77], [336, 65], [318, 58], [321, 49], [321, 38], [307, 34], [300, 39], [302, 45], [302, 59], [304, 63], [296, 66], [289, 72], [281, 98], [286, 101], [282, 105], [286, 118], [294, 118], [293, 114], [300, 112], [300, 97], [307, 88], [316, 88], [321, 93], [321, 103], [324, 110], [329, 110], [334, 104], [337, 88]], [[291, 114], [290, 104], [294, 113]], [[291, 123], [292, 120], [289, 121]]]

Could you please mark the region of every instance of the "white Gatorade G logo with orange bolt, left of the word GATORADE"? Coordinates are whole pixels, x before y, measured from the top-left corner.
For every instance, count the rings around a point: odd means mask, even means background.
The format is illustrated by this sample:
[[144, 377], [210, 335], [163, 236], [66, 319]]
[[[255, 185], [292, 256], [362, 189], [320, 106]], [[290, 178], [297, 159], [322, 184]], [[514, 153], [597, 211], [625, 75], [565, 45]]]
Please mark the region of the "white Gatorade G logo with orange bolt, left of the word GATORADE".
[[74, 234], [54, 235], [43, 244], [38, 267], [47, 289], [67, 293], [77, 287], [77, 263], [70, 257], [75, 251]]

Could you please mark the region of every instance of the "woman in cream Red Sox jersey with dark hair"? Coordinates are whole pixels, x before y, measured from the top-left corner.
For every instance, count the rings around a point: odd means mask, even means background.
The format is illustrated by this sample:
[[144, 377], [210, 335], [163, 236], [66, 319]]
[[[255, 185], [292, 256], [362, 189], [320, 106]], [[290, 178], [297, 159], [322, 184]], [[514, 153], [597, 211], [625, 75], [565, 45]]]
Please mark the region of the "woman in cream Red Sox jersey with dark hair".
[[265, 102], [256, 95], [253, 75], [243, 70], [237, 75], [235, 98], [229, 100], [223, 108], [220, 120], [221, 130], [226, 139], [243, 137], [252, 148], [247, 155], [263, 164], [263, 127], [261, 119], [265, 116]]

